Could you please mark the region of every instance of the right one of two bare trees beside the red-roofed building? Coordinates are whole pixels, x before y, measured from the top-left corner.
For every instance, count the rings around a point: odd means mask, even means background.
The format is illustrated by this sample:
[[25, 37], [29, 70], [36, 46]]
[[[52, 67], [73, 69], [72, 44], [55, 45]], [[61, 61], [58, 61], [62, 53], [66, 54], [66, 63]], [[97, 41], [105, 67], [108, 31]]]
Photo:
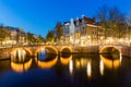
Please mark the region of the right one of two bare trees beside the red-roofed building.
[[115, 7], [109, 10], [108, 22], [112, 37], [122, 37], [126, 29], [126, 21], [124, 15], [118, 10], [118, 8]]

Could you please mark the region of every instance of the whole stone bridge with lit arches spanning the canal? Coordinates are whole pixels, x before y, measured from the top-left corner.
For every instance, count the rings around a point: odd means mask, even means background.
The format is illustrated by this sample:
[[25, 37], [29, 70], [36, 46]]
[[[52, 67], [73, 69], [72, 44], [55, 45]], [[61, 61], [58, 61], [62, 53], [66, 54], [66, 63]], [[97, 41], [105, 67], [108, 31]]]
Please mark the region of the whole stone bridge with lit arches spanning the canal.
[[[103, 50], [106, 48], [115, 48], [121, 54], [130, 55], [130, 47], [123, 46], [86, 46], [86, 47], [78, 47], [78, 46], [21, 46], [21, 47], [10, 47], [0, 49], [0, 55], [12, 55], [16, 51], [24, 50], [29, 57], [37, 57], [37, 53], [41, 50], [46, 50], [48, 53], [60, 54], [62, 52], [66, 53], [81, 53], [81, 52], [96, 52], [103, 53]], [[0, 57], [1, 58], [1, 57]]]

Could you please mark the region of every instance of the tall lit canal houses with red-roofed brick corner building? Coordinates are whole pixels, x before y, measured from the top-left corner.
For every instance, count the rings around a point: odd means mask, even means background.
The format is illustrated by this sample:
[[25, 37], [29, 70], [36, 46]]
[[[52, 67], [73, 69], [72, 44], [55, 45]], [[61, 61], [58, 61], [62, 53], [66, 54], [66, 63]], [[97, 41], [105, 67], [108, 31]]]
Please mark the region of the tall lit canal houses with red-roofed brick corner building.
[[98, 26], [94, 18], [82, 15], [81, 18], [71, 18], [63, 23], [62, 40], [66, 45], [102, 45], [104, 44], [104, 29]]

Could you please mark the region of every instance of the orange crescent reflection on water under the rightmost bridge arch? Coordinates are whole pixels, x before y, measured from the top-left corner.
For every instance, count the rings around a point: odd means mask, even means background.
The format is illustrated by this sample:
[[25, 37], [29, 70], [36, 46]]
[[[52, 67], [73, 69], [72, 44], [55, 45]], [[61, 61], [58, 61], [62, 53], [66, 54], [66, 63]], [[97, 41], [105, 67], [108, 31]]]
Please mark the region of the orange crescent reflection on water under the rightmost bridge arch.
[[117, 60], [110, 60], [110, 59], [104, 58], [102, 54], [100, 54], [100, 59], [103, 60], [105, 66], [109, 69], [118, 69], [122, 60], [122, 58]]

